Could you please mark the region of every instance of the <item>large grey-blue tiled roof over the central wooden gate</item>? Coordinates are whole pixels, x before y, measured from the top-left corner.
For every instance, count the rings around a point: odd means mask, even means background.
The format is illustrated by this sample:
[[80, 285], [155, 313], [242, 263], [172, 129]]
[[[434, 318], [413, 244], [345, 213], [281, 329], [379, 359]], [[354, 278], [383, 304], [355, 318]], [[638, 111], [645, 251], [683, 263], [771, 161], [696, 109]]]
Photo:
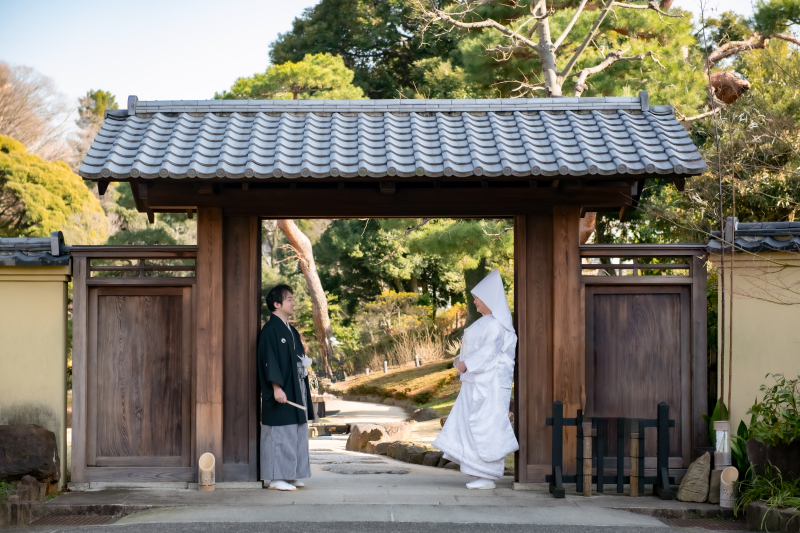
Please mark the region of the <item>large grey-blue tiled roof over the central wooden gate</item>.
[[108, 113], [102, 178], [691, 176], [706, 164], [646, 98], [139, 102]]

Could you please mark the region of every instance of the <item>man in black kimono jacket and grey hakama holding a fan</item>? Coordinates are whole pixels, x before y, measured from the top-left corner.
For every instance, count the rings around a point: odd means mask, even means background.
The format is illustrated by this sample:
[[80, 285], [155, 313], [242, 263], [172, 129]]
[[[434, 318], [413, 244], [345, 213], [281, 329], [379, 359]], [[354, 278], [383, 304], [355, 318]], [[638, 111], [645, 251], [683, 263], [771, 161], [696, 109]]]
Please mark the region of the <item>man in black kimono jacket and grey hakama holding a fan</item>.
[[[261, 479], [273, 490], [297, 490], [311, 477], [308, 420], [314, 419], [308, 367], [300, 334], [289, 324], [294, 313], [292, 289], [278, 285], [267, 294], [272, 311], [258, 341], [261, 382]], [[304, 409], [287, 403], [287, 400]]]

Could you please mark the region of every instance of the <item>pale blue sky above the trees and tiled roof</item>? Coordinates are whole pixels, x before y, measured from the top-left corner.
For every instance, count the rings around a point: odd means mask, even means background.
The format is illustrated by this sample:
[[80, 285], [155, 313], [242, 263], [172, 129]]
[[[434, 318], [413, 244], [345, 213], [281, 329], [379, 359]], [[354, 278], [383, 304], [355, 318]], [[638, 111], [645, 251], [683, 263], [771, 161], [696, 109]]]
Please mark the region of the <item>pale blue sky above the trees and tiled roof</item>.
[[[267, 67], [269, 43], [318, 0], [0, 0], [0, 60], [77, 98], [199, 100]], [[700, 0], [675, 0], [699, 12]], [[751, 0], [704, 0], [750, 14]]]

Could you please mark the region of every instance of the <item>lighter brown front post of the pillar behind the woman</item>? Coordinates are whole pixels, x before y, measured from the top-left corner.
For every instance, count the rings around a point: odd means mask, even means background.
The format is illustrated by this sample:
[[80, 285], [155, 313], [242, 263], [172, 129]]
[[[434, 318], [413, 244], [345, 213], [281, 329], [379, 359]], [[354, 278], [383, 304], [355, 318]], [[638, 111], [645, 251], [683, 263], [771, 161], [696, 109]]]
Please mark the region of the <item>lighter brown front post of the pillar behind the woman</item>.
[[[566, 412], [586, 404], [586, 372], [581, 320], [580, 208], [553, 208], [553, 399], [564, 403]], [[575, 469], [576, 434], [564, 438], [567, 471]]]

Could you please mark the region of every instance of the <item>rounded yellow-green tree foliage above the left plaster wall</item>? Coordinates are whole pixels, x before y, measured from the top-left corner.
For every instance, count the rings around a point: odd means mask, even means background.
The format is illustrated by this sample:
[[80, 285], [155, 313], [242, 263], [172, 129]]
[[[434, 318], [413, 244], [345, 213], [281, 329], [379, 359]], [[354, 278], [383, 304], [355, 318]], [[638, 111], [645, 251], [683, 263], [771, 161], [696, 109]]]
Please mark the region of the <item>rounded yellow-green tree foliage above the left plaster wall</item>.
[[108, 237], [100, 202], [80, 176], [0, 135], [0, 236], [42, 237], [53, 231], [64, 231], [70, 244], [100, 244]]

